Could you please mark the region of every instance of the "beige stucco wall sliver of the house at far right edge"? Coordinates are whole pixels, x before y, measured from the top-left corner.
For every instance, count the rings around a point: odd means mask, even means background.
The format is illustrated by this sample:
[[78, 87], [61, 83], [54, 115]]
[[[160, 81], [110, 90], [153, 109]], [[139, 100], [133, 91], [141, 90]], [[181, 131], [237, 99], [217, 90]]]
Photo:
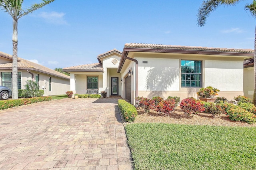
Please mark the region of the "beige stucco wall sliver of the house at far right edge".
[[253, 99], [254, 67], [244, 68], [244, 96]]

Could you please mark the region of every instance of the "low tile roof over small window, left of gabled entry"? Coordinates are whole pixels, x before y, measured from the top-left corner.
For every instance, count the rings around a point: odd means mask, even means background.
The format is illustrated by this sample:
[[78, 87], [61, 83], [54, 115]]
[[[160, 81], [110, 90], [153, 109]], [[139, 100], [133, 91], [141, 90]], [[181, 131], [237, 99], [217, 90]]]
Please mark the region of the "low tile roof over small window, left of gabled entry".
[[102, 64], [100, 63], [92, 63], [92, 64], [85, 64], [85, 65], [77, 65], [77, 66], [72, 66], [72, 67], [65, 67], [63, 68], [63, 71], [97, 71], [97, 72], [102, 72], [103, 67]]

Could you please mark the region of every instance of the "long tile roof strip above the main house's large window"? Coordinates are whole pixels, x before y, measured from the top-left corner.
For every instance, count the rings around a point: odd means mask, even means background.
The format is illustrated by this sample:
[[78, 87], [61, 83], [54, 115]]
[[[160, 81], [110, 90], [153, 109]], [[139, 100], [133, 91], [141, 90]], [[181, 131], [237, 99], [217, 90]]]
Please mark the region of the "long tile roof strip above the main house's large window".
[[234, 48], [214, 48], [214, 47], [193, 47], [180, 45], [162, 45], [150, 43], [126, 43], [124, 47], [131, 48], [150, 48], [150, 49], [183, 49], [183, 50], [200, 50], [200, 51], [220, 51], [220, 52], [238, 52], [238, 53], [254, 53], [253, 49], [234, 49]]

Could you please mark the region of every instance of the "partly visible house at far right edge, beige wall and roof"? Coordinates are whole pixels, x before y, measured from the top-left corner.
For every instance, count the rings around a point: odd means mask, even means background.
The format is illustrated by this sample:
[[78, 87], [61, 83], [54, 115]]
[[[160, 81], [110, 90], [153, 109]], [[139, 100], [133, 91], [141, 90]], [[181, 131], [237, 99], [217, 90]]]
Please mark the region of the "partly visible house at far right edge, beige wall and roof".
[[253, 58], [244, 60], [244, 96], [253, 99], [254, 93], [254, 61]]

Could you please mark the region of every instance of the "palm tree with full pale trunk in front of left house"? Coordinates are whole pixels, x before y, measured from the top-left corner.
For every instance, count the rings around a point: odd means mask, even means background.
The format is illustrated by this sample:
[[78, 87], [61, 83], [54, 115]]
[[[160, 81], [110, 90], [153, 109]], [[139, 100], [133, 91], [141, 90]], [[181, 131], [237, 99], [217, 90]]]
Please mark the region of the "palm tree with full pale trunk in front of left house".
[[53, 1], [43, 0], [42, 3], [32, 4], [30, 8], [23, 10], [23, 0], [0, 0], [0, 8], [12, 17], [12, 99], [18, 99], [18, 19]]

